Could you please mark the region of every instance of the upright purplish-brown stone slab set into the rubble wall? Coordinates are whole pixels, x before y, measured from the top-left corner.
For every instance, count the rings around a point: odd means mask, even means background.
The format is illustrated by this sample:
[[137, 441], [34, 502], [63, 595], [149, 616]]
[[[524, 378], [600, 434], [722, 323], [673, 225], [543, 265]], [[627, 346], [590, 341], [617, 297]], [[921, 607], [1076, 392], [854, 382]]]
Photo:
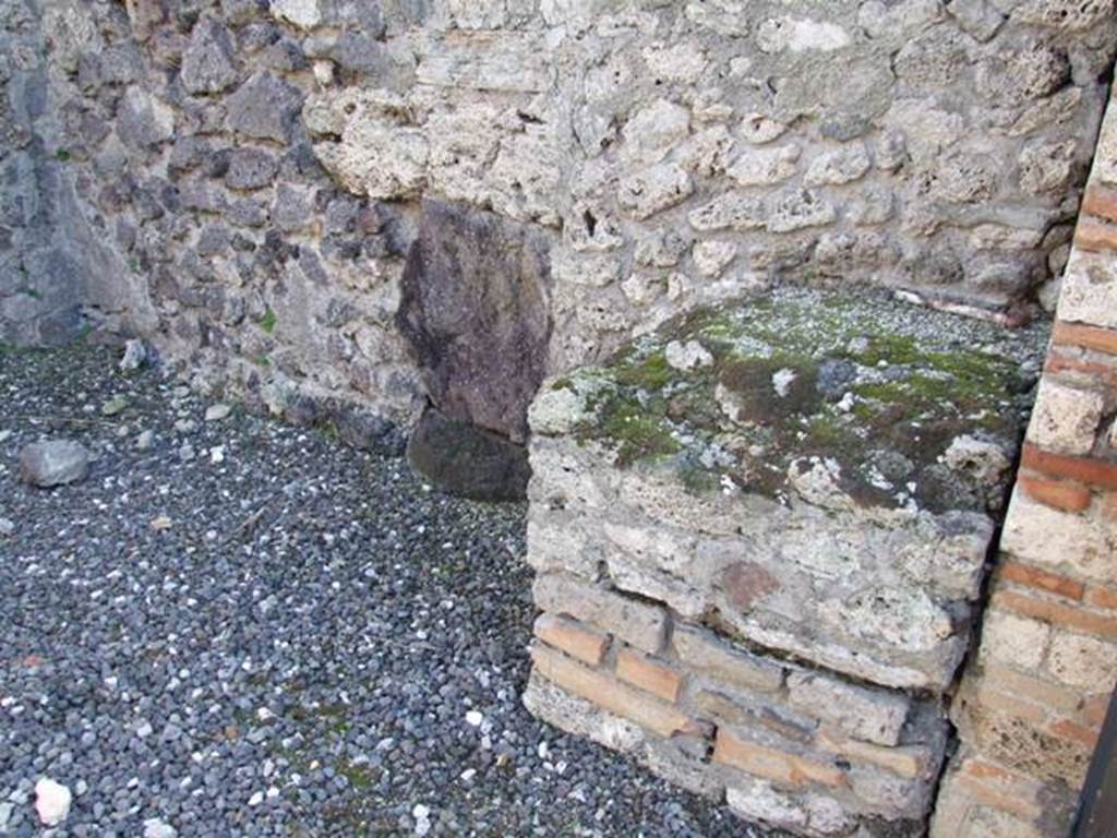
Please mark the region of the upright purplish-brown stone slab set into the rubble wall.
[[490, 212], [423, 201], [400, 331], [435, 406], [522, 441], [546, 366], [547, 239]]

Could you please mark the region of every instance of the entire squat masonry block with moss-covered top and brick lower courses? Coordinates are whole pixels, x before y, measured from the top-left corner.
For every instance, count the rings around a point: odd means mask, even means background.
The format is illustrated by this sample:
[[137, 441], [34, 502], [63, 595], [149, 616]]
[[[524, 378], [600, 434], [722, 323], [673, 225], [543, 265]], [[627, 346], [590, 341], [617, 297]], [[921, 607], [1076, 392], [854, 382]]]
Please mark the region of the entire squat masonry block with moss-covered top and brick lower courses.
[[780, 291], [545, 382], [525, 704], [748, 821], [922, 834], [1044, 342]]

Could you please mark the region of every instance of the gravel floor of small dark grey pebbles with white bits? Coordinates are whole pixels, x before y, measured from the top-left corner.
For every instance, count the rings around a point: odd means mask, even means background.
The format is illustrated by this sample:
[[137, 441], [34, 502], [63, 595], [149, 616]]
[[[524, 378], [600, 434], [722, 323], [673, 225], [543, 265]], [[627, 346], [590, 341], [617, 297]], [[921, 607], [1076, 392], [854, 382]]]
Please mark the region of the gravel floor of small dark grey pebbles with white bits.
[[[755, 835], [524, 711], [523, 507], [117, 354], [0, 347], [0, 834]], [[48, 436], [84, 482], [17, 483]]]

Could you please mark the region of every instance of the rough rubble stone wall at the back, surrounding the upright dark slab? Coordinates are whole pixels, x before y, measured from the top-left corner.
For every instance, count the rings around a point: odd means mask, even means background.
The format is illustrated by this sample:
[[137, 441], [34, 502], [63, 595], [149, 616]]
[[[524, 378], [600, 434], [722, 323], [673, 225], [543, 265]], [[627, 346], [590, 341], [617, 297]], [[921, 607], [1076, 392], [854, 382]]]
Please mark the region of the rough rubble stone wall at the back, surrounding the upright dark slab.
[[[1066, 258], [1117, 42], [1104, 0], [3, 9], [26, 41], [6, 177], [59, 196], [3, 222], [4, 335], [84, 304], [200, 387], [405, 426], [446, 408], [394, 322], [423, 199], [545, 245], [546, 372], [783, 280], [1023, 318]], [[56, 286], [66, 305], [21, 291]], [[475, 291], [464, 317], [499, 322]], [[538, 374], [504, 359], [489, 378]]]

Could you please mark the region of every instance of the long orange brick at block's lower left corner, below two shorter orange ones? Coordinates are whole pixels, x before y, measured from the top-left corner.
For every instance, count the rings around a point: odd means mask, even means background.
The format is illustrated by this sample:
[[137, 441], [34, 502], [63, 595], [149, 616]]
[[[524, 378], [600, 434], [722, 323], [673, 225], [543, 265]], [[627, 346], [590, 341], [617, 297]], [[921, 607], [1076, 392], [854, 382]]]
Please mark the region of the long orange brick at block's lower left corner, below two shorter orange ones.
[[701, 723], [643, 693], [632, 689], [611, 675], [589, 669], [573, 658], [546, 646], [532, 647], [535, 670], [547, 680], [618, 716], [623, 716], [652, 733], [670, 739], [676, 733], [703, 734]]

